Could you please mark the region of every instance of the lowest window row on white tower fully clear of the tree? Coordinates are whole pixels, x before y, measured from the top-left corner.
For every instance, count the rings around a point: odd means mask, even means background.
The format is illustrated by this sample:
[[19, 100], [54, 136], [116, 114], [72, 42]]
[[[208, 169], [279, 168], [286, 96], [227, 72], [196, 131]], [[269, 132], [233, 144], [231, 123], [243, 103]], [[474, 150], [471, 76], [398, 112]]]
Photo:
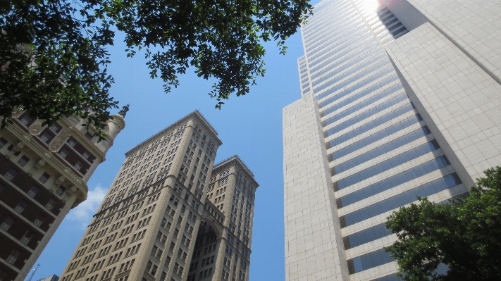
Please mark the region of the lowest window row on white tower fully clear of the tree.
[[395, 208], [404, 206], [405, 204], [412, 203], [413, 201], [416, 201], [416, 196], [430, 196], [450, 187], [459, 185], [460, 183], [461, 180], [459, 180], [456, 173], [446, 175], [445, 177], [441, 177], [419, 187], [415, 187], [407, 192], [402, 192], [401, 194], [392, 196], [388, 199], [383, 199], [376, 204], [372, 204], [366, 206], [365, 208], [361, 208], [360, 210], [348, 213], [345, 216], [340, 217], [341, 227], [347, 227], [355, 223], [359, 223], [362, 220], [378, 216], [381, 213], [385, 213]]

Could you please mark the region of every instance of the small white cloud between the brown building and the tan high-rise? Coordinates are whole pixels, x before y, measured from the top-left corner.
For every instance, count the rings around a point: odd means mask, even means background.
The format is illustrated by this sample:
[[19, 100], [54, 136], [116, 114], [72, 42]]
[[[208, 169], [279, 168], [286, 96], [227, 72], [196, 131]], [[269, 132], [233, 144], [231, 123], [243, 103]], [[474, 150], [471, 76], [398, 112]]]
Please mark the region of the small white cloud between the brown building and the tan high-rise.
[[94, 213], [96, 213], [97, 207], [99, 207], [99, 204], [101, 204], [101, 201], [103, 201], [104, 196], [106, 195], [106, 189], [102, 188], [100, 185], [97, 185], [92, 190], [89, 190], [89, 193], [87, 194], [87, 200], [83, 201], [78, 205], [77, 208], [74, 208], [73, 210], [68, 213], [68, 220], [75, 220], [78, 223], [80, 223], [80, 226], [82, 228], [87, 227], [89, 225], [90, 220], [92, 219], [92, 216]]

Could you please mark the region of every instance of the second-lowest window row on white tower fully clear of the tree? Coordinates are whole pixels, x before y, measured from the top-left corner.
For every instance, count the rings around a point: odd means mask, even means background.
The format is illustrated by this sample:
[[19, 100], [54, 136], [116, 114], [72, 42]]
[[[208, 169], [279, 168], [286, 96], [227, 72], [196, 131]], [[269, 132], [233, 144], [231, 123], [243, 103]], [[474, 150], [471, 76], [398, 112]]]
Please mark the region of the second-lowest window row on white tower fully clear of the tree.
[[370, 196], [384, 192], [388, 189], [392, 189], [393, 187], [403, 185], [405, 182], [409, 182], [448, 165], [450, 165], [450, 163], [449, 161], [447, 161], [445, 155], [437, 157], [431, 161], [427, 161], [418, 166], [410, 168], [409, 170], [405, 170], [402, 173], [388, 177], [385, 180], [375, 182], [368, 187], [357, 190], [356, 192], [342, 196], [336, 199], [336, 203], [338, 205], [338, 208], [354, 204], [357, 201], [369, 198]]

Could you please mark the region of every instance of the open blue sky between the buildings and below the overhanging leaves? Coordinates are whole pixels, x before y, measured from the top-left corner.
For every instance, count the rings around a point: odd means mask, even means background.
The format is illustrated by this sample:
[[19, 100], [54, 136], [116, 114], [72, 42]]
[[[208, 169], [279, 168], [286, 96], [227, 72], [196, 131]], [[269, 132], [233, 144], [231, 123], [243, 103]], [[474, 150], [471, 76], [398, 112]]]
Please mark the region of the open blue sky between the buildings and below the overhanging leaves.
[[118, 173], [125, 152], [195, 109], [216, 128], [223, 141], [216, 163], [238, 154], [260, 184], [256, 192], [249, 280], [285, 280], [282, 108], [300, 97], [297, 58], [303, 49], [299, 32], [287, 40], [285, 56], [278, 54], [276, 43], [265, 44], [265, 77], [259, 77], [258, 85], [246, 96], [231, 96], [221, 111], [214, 108], [216, 100], [208, 95], [212, 83], [194, 75], [193, 69], [180, 77], [177, 89], [166, 94], [163, 82], [149, 77], [140, 54], [125, 57], [121, 42], [117, 37], [116, 46], [110, 49], [113, 63], [108, 69], [116, 80], [111, 96], [120, 101], [120, 107], [135, 96], [125, 118], [125, 129], [106, 155], [106, 161], [87, 182], [87, 201], [68, 213], [42, 252], [37, 261], [41, 266], [32, 280], [61, 275]]

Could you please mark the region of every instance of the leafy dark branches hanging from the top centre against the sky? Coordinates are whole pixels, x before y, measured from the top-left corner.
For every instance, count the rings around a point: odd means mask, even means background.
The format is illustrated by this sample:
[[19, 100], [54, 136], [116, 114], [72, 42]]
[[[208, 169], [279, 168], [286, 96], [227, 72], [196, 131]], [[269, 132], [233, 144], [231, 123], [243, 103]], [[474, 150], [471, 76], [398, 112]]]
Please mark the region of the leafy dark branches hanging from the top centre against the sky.
[[178, 74], [190, 66], [199, 77], [215, 77], [210, 94], [216, 108], [233, 92], [247, 94], [254, 78], [264, 75], [266, 51], [260, 40], [277, 39], [285, 54], [285, 39], [311, 11], [308, 1], [300, 0], [130, 0], [104, 1], [103, 6], [104, 15], [125, 32], [130, 56], [144, 46], [163, 50], [145, 55], [151, 77], [177, 87]]

